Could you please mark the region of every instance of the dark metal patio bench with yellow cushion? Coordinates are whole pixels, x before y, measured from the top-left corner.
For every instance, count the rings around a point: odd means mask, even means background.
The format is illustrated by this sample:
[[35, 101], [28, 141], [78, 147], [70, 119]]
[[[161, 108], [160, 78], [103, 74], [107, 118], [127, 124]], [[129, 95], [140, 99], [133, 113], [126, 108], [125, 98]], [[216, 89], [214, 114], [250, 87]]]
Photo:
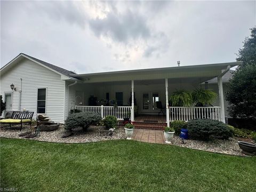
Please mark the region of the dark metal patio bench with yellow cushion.
[[0, 123], [3, 124], [20, 124], [20, 131], [22, 129], [22, 123], [29, 123], [31, 127], [31, 121], [34, 112], [31, 111], [13, 111], [11, 118], [1, 119]]

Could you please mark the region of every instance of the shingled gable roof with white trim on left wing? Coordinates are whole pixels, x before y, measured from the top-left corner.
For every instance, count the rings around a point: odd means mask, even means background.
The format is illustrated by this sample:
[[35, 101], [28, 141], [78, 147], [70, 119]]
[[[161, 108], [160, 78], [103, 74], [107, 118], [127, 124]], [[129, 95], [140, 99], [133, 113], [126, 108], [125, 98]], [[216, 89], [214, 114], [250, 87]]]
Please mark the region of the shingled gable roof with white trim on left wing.
[[[49, 68], [51, 69], [52, 71], [58, 73], [58, 74], [62, 74], [62, 75], [65, 75], [67, 77], [71, 77], [71, 75], [75, 75], [76, 73], [74, 73], [73, 71], [69, 71], [67, 69], [63, 69], [61, 67], [58, 67], [58, 66], [55, 66], [55, 65], [52, 65], [51, 63], [47, 63], [45, 61], [42, 61], [42, 60], [39, 60], [37, 58], [34, 58], [34, 57], [31, 57], [30, 55], [27, 55], [25, 53], [20, 53], [17, 57], [15, 57], [13, 60], [11, 60], [9, 63], [7, 63], [5, 66], [3, 66], [1, 68], [1, 71], [5, 68], [7, 68], [7, 66], [11, 65], [12, 63], [15, 63], [15, 61], [19, 60], [20, 57], [23, 57], [23, 58], [27, 58], [31, 61], [34, 61], [36, 63], [39, 63], [41, 64], [42, 66], [46, 67], [46, 68]], [[74, 77], [71, 77], [71, 78], [74, 78]]]

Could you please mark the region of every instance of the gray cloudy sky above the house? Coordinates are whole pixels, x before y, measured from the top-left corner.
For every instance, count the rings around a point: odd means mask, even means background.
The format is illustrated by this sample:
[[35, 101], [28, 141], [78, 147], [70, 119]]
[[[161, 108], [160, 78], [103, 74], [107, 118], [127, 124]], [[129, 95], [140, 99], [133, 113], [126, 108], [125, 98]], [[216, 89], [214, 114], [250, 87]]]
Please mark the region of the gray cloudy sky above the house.
[[20, 52], [93, 73], [235, 61], [255, 1], [1, 1], [1, 66]]

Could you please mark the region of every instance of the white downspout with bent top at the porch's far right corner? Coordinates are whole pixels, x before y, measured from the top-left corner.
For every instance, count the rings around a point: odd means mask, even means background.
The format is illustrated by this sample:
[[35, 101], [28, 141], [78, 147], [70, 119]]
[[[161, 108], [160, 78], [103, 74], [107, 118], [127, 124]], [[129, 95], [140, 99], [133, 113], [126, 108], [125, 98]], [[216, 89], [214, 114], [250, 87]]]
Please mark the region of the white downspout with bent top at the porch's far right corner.
[[219, 95], [220, 95], [220, 115], [221, 115], [221, 121], [223, 123], [226, 123], [225, 119], [225, 109], [224, 109], [224, 96], [223, 96], [223, 87], [222, 87], [222, 77], [225, 75], [230, 69], [230, 65], [227, 66], [227, 69], [223, 71], [219, 76], [218, 76], [218, 86], [219, 86]]

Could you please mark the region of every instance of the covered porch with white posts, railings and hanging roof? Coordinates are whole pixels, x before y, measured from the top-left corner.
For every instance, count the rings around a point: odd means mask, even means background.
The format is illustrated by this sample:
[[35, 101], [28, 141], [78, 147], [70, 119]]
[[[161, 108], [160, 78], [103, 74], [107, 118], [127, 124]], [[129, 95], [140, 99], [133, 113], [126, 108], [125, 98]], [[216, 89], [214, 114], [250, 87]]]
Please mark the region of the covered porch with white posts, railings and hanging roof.
[[[225, 122], [221, 77], [230, 66], [235, 65], [221, 63], [73, 75], [79, 77], [82, 83], [80, 81], [73, 86], [67, 85], [68, 109], [93, 111], [100, 113], [102, 118], [108, 115], [116, 116], [118, 120], [130, 117], [131, 122], [166, 123], [167, 126], [171, 121], [189, 121], [194, 118], [211, 118]], [[175, 90], [193, 90], [216, 76], [220, 106], [169, 106], [169, 95]], [[90, 103], [90, 100], [94, 100], [94, 103]]]

